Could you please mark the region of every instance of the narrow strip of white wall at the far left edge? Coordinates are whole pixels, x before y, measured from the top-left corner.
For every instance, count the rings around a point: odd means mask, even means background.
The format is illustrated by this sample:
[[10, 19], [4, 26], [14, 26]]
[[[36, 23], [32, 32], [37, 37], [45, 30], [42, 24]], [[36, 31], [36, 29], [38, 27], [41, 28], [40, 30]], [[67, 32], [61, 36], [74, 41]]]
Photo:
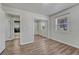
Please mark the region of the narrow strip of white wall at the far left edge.
[[0, 4], [0, 53], [5, 49], [6, 19]]

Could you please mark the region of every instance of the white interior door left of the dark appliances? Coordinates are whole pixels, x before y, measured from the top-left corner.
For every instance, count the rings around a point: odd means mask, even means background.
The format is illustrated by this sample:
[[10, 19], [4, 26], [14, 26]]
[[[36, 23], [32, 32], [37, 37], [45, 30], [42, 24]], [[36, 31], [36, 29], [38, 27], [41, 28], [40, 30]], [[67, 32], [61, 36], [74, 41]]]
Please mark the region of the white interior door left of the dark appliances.
[[13, 17], [9, 14], [6, 14], [8, 20], [8, 40], [12, 40], [14, 38], [14, 22]]

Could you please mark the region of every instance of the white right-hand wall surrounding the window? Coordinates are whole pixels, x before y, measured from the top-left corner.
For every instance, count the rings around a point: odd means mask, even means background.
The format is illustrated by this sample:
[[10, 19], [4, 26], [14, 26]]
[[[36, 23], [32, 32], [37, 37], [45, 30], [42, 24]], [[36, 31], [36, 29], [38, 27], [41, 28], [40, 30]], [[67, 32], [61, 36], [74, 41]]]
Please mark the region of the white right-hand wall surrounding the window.
[[[55, 17], [65, 13], [70, 13], [68, 15], [70, 21], [70, 31], [58, 32], [55, 30]], [[51, 16], [49, 24], [50, 38], [54, 38], [54, 40], [79, 48], [79, 5]]]

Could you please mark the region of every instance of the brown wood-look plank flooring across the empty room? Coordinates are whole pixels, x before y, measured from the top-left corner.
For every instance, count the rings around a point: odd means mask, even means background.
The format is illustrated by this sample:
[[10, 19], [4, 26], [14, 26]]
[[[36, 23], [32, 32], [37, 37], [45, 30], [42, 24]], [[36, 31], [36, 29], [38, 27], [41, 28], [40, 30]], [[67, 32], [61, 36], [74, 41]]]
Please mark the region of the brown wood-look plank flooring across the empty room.
[[34, 42], [20, 46], [19, 39], [6, 42], [2, 55], [78, 55], [79, 49], [66, 44], [35, 36]]

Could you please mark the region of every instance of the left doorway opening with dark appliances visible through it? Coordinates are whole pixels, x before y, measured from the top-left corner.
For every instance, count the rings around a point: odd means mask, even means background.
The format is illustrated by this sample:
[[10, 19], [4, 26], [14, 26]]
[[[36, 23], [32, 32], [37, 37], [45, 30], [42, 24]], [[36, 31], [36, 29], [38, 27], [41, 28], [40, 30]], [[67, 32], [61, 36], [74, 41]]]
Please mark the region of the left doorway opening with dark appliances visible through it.
[[7, 14], [9, 40], [20, 39], [20, 16]]

